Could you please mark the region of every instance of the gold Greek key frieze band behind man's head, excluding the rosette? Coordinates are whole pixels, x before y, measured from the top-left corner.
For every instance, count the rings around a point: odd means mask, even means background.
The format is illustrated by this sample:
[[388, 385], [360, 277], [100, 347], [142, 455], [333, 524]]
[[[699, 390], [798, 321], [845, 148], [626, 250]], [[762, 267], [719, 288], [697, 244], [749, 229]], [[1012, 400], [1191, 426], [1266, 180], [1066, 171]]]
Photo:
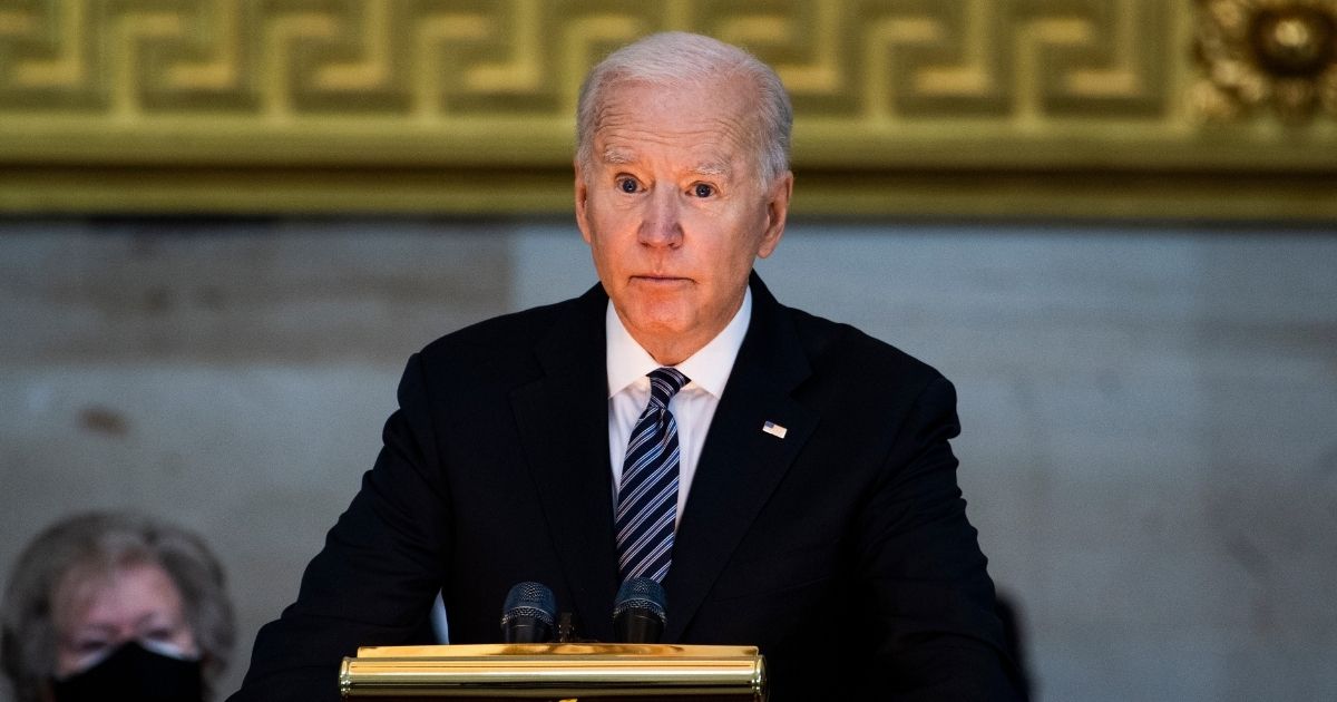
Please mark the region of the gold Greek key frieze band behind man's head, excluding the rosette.
[[[595, 7], [595, 9], [590, 9]], [[5, 0], [4, 112], [513, 112], [567, 119], [607, 49], [662, 28], [750, 47], [801, 114], [1162, 111], [1163, 3]], [[1148, 39], [1144, 32], [1155, 36]], [[262, 127], [257, 124], [257, 128]]]

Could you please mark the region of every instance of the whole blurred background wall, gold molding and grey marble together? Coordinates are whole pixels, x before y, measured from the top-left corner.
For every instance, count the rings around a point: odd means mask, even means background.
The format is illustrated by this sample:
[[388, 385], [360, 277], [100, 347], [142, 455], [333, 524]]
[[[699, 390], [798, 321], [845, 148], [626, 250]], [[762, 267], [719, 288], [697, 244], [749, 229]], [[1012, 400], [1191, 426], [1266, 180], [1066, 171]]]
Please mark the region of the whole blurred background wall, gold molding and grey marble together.
[[0, 0], [0, 576], [75, 509], [199, 530], [234, 686], [408, 354], [594, 282], [575, 83], [681, 27], [796, 94], [767, 283], [956, 382], [1039, 698], [1337, 698], [1337, 53], [1249, 43], [1330, 16]]

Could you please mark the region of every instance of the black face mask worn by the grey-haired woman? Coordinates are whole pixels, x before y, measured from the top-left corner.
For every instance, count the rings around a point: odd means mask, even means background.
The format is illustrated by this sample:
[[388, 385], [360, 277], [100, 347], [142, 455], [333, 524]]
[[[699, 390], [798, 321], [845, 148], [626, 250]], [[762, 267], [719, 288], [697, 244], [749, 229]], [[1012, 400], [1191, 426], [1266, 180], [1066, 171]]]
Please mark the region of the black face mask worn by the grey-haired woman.
[[152, 653], [132, 640], [96, 666], [52, 681], [57, 702], [135, 699], [142, 702], [201, 702], [205, 679], [199, 661]]

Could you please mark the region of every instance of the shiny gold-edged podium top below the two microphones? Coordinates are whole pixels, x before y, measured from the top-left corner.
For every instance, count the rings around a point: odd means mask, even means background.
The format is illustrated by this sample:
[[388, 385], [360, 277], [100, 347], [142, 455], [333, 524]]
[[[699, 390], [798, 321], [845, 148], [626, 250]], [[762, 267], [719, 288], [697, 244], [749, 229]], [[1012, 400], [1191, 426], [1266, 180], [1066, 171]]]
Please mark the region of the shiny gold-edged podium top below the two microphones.
[[753, 646], [499, 643], [366, 646], [340, 669], [345, 699], [765, 702]]

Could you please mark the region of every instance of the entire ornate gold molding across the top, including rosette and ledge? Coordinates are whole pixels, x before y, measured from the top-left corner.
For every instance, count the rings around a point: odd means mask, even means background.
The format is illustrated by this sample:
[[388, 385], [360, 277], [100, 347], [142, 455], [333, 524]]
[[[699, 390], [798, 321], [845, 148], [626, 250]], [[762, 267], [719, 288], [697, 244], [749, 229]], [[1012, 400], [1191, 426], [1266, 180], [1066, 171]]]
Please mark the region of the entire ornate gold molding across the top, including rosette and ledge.
[[0, 211], [564, 211], [582, 75], [683, 28], [802, 213], [1337, 218], [1334, 1], [0, 0]]

